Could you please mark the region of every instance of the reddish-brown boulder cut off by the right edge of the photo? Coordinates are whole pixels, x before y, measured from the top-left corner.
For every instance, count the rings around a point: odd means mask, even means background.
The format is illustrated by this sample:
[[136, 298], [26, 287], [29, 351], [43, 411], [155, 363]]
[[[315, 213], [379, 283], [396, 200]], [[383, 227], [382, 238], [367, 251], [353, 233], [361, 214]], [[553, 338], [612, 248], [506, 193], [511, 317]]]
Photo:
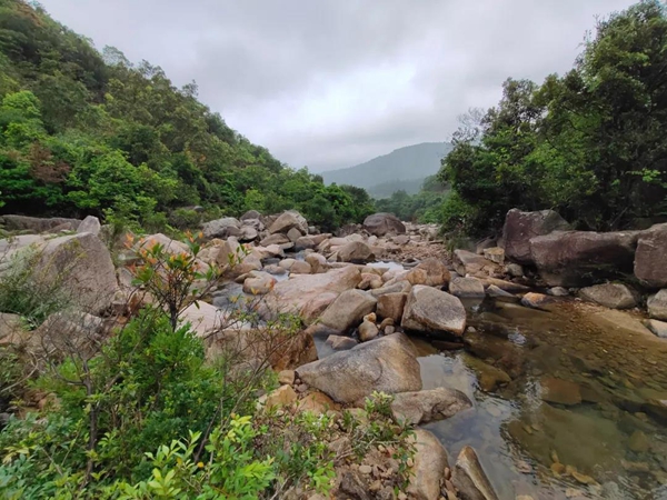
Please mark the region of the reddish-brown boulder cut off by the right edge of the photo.
[[640, 233], [635, 252], [635, 276], [647, 287], [667, 287], [667, 223]]

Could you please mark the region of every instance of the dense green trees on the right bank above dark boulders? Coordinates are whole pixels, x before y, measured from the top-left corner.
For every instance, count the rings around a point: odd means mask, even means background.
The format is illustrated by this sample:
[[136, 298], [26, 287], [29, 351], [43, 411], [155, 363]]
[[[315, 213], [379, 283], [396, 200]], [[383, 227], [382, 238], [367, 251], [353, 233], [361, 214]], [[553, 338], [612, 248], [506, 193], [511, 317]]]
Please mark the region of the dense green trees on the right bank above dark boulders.
[[[667, 211], [667, 10], [641, 1], [587, 39], [542, 86], [507, 80], [500, 103], [455, 134], [440, 179], [445, 229], [498, 229], [511, 208], [552, 208], [609, 230]], [[467, 133], [475, 130], [479, 133]]]

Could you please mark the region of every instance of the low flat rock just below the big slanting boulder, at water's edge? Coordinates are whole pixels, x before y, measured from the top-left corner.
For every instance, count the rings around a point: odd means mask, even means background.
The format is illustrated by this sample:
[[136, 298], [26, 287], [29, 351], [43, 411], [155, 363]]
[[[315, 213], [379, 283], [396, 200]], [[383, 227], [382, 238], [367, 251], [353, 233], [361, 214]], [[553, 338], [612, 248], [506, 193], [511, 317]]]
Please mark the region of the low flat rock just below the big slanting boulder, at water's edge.
[[400, 392], [394, 396], [391, 402], [394, 417], [412, 426], [448, 419], [471, 407], [472, 403], [466, 394], [444, 387], [417, 392]]

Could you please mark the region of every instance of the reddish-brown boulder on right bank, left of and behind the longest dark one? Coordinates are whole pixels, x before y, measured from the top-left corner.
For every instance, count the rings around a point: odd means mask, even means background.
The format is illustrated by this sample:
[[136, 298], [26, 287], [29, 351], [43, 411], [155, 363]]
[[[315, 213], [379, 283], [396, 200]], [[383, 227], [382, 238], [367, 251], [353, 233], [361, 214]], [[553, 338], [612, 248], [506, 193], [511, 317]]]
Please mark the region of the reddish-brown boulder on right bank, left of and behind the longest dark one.
[[505, 257], [522, 264], [532, 264], [530, 239], [568, 229], [569, 224], [554, 210], [522, 212], [511, 209], [502, 227]]

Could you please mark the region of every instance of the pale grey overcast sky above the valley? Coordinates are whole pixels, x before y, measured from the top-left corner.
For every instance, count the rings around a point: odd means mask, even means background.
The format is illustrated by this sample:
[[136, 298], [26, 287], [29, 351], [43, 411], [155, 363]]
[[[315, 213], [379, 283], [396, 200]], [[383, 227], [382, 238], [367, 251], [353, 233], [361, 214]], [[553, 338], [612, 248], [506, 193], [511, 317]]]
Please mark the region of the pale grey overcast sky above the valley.
[[508, 77], [569, 69], [626, 0], [41, 0], [60, 22], [161, 66], [292, 167], [350, 167], [445, 141]]

